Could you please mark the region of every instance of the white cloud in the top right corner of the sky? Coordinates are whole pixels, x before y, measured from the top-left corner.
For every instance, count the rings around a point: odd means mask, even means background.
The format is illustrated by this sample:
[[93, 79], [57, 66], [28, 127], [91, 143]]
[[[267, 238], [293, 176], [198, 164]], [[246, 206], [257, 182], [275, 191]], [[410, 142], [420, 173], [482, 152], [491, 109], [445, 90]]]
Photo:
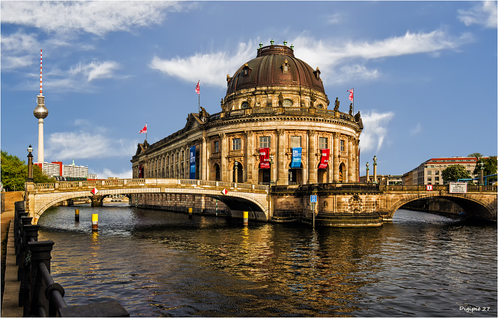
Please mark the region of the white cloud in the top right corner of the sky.
[[465, 25], [480, 24], [487, 28], [498, 27], [498, 4], [496, 1], [482, 1], [469, 10], [459, 9], [458, 18]]

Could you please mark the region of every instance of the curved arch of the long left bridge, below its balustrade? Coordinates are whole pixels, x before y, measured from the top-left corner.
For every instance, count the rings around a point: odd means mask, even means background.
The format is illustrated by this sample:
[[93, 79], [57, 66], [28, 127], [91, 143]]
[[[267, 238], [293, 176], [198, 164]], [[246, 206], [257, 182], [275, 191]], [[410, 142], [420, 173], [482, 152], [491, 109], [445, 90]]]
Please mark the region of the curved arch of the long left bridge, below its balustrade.
[[[90, 191], [68, 191], [60, 192], [60, 196], [50, 196], [48, 200], [41, 204], [34, 204], [33, 222], [38, 223], [38, 219], [48, 208], [61, 201], [72, 199], [75, 197], [89, 196]], [[229, 191], [226, 195], [219, 194], [219, 190], [211, 190], [204, 188], [159, 188], [159, 187], [145, 187], [145, 188], [118, 188], [118, 189], [102, 189], [99, 190], [98, 195], [102, 198], [111, 194], [132, 194], [132, 193], [168, 193], [168, 194], [187, 194], [187, 195], [204, 195], [207, 197], [215, 198], [225, 203], [230, 209], [233, 210], [249, 210], [262, 212], [266, 220], [269, 220], [269, 211], [266, 204], [261, 200], [255, 198], [253, 195], [246, 194], [240, 191]], [[53, 193], [52, 193], [53, 194]], [[43, 195], [43, 194], [42, 194]], [[39, 208], [38, 208], [39, 206]]]

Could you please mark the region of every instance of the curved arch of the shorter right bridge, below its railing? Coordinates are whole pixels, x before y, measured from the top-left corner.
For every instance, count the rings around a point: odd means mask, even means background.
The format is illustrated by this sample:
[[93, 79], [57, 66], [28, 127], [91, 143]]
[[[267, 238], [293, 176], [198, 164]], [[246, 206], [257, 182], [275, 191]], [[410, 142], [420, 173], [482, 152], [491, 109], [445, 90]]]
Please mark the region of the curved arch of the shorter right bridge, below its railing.
[[[391, 208], [388, 210], [387, 215], [384, 219], [392, 220], [392, 216], [394, 213], [404, 204], [409, 203], [411, 201], [423, 199], [423, 198], [444, 198], [449, 201], [452, 201], [455, 204], [458, 204], [465, 211], [466, 215], [469, 217], [479, 217], [484, 218], [490, 221], [497, 220], [497, 198], [495, 196], [494, 202], [490, 202], [484, 198], [476, 198], [471, 195], [452, 195], [452, 194], [443, 194], [443, 195], [435, 195], [435, 193], [428, 194], [412, 194], [408, 197], [403, 197], [400, 200], [393, 202]], [[479, 200], [478, 200], [479, 199]]]

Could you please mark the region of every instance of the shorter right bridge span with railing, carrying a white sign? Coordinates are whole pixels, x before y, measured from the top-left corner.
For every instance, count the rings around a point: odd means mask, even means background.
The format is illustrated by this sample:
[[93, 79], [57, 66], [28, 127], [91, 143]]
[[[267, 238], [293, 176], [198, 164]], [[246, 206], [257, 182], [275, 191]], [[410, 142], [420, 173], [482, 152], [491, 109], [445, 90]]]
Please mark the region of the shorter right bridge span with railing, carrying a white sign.
[[458, 204], [467, 216], [497, 221], [497, 195], [493, 193], [389, 193], [379, 195], [379, 213], [384, 221], [391, 221], [394, 213], [404, 204], [424, 198], [444, 198]]

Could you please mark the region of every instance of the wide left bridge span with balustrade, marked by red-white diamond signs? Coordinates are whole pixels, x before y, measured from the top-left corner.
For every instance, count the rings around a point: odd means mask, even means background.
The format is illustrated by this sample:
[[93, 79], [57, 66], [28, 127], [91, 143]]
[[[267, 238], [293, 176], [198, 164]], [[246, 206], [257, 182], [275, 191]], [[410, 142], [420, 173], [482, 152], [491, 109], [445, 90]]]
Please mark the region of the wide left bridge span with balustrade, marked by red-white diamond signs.
[[[159, 180], [159, 179], [152, 179], [152, 180]], [[245, 192], [244, 188], [239, 188], [238, 186], [247, 187], [248, 184], [212, 181], [216, 183], [215, 186], [203, 187], [202, 184], [198, 184], [200, 183], [199, 182], [200, 180], [178, 180], [178, 179], [173, 179], [173, 180], [178, 181], [177, 183], [173, 183], [174, 186], [172, 182], [169, 182], [168, 185], [165, 185], [164, 183], [160, 183], [157, 181], [156, 184], [153, 184], [153, 186], [147, 186], [146, 183], [149, 183], [149, 185], [151, 185], [152, 182], [150, 182], [150, 180], [149, 182], [145, 182], [145, 180], [143, 180], [142, 184], [139, 184], [137, 186], [124, 186], [120, 184], [111, 184], [107, 186], [108, 188], [106, 188], [106, 185], [104, 184], [104, 182], [102, 182], [101, 184], [90, 184], [90, 186], [86, 186], [86, 189], [81, 189], [82, 187], [85, 187], [85, 185], [81, 184], [82, 182], [75, 182], [79, 184], [75, 184], [74, 187], [66, 187], [65, 191], [64, 189], [55, 191], [55, 187], [52, 191], [50, 189], [40, 189], [39, 191], [36, 191], [36, 189], [32, 187], [31, 189], [35, 191], [29, 191], [28, 195], [29, 200], [27, 201], [27, 207], [30, 216], [33, 217], [33, 224], [37, 224], [40, 216], [49, 207], [61, 201], [72, 199], [75, 197], [83, 197], [83, 196], [92, 197], [93, 194], [90, 191], [95, 186], [99, 189], [98, 196], [102, 196], [102, 198], [111, 194], [132, 194], [132, 193], [168, 193], [168, 194], [207, 196], [222, 201], [230, 209], [233, 210], [249, 210], [249, 211], [263, 212], [266, 217], [266, 220], [269, 220], [271, 217], [268, 209], [268, 194], [266, 190], [263, 189], [261, 186], [257, 186], [258, 187], [257, 189], [248, 189], [249, 191]], [[186, 182], [182, 183], [182, 181]], [[221, 193], [221, 191], [224, 188], [228, 190], [226, 195]]]

